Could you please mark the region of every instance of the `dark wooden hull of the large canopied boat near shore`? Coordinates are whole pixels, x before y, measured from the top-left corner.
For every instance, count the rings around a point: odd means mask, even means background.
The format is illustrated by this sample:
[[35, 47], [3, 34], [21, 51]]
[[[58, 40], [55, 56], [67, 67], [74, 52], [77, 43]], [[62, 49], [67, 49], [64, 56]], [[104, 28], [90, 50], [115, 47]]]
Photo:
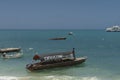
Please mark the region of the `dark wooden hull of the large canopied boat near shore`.
[[37, 71], [37, 70], [48, 69], [48, 68], [64, 67], [64, 66], [72, 66], [76, 64], [81, 64], [85, 62], [85, 60], [86, 58], [76, 58], [75, 60], [62, 61], [62, 62], [53, 63], [53, 64], [34, 63], [34, 64], [26, 65], [26, 68], [30, 71]]

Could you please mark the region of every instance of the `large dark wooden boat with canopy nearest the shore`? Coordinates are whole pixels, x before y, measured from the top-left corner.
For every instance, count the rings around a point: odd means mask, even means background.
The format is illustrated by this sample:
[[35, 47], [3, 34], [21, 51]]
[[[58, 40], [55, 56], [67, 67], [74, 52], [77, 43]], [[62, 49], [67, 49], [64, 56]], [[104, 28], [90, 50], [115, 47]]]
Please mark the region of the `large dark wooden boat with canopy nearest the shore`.
[[81, 64], [86, 61], [87, 57], [76, 58], [73, 49], [70, 52], [51, 53], [41, 56], [35, 55], [33, 59], [40, 60], [40, 62], [27, 64], [26, 68], [30, 71]]

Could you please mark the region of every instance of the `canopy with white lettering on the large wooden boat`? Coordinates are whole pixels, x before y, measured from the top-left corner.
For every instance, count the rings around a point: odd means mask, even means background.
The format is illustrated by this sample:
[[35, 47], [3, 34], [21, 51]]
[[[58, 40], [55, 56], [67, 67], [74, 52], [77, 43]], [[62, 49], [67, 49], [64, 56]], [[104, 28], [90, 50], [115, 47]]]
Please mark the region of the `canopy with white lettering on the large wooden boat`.
[[75, 60], [75, 51], [67, 51], [67, 52], [56, 52], [56, 53], [49, 53], [49, 54], [36, 54], [33, 57], [33, 60], [40, 60], [42, 63], [55, 63], [61, 62], [66, 60]]

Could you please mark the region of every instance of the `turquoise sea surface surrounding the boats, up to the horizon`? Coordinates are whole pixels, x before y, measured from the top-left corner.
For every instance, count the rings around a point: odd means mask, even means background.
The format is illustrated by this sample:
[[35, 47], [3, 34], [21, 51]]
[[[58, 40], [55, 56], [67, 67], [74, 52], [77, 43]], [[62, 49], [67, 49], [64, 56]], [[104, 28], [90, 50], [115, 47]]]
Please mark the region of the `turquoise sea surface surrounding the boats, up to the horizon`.
[[[73, 35], [69, 35], [73, 32]], [[67, 36], [67, 40], [49, 40]], [[120, 80], [120, 32], [104, 30], [0, 30], [0, 48], [19, 47], [23, 57], [0, 58], [0, 80]], [[31, 50], [31, 48], [33, 48]], [[35, 53], [71, 51], [87, 56], [85, 63], [28, 71]]]

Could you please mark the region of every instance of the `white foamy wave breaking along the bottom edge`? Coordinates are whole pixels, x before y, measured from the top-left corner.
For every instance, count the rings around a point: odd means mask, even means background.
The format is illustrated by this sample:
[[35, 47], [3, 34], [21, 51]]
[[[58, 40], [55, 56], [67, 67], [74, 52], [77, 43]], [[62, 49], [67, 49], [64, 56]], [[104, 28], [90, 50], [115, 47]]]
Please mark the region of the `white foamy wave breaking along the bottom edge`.
[[29, 77], [11, 77], [0, 76], [0, 80], [101, 80], [97, 77], [78, 77], [78, 76], [29, 76]]

